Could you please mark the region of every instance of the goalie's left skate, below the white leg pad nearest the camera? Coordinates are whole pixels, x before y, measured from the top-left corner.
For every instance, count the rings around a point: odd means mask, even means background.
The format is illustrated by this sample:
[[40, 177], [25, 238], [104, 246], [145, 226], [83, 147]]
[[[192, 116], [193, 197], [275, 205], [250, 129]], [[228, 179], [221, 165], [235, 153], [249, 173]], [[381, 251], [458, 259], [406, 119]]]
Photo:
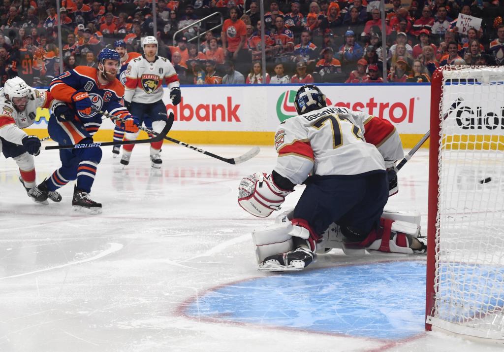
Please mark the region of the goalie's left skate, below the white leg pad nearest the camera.
[[266, 258], [259, 270], [293, 271], [306, 268], [315, 258], [311, 250], [299, 247], [293, 252], [277, 254]]

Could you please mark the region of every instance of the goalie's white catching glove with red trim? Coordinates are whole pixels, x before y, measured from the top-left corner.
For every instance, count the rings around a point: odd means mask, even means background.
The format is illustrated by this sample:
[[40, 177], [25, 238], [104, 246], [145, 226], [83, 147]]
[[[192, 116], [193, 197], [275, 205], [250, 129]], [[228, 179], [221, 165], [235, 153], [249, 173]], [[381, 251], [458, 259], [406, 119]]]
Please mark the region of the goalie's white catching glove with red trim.
[[238, 204], [248, 213], [266, 218], [279, 210], [285, 196], [294, 190], [280, 188], [272, 175], [256, 172], [244, 177], [238, 187]]

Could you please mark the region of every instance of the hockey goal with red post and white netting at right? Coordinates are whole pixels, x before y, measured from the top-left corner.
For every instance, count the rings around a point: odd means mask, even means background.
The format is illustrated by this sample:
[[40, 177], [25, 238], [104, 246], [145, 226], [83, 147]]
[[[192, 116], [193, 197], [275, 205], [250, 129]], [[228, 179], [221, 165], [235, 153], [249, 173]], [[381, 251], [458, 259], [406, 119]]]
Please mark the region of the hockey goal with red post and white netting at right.
[[437, 69], [430, 109], [426, 329], [502, 342], [504, 67]]

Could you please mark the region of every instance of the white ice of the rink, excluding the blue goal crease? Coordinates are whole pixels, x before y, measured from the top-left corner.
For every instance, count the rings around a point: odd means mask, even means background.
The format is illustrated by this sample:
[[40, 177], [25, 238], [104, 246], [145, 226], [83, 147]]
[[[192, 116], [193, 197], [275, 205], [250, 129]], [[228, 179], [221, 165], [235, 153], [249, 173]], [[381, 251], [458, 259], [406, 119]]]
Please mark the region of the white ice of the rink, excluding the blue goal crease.
[[[225, 157], [249, 149], [203, 147]], [[256, 158], [229, 165], [165, 144], [159, 171], [150, 168], [145, 145], [135, 147], [124, 170], [111, 148], [103, 154], [91, 193], [103, 204], [96, 216], [72, 210], [72, 184], [60, 189], [59, 204], [33, 203], [15, 162], [2, 157], [0, 351], [502, 350], [437, 331], [398, 342], [186, 317], [184, 304], [208, 289], [276, 275], [256, 270], [250, 236], [273, 220], [254, 218], [236, 202], [243, 176], [271, 172], [274, 149], [262, 147]], [[58, 166], [57, 152], [43, 151], [37, 181]], [[400, 192], [388, 206], [420, 211], [424, 230], [427, 170], [422, 149], [400, 172]], [[284, 209], [296, 204], [301, 189]], [[336, 250], [310, 268], [370, 260], [386, 258], [355, 259]], [[424, 299], [424, 292], [411, 295]]]

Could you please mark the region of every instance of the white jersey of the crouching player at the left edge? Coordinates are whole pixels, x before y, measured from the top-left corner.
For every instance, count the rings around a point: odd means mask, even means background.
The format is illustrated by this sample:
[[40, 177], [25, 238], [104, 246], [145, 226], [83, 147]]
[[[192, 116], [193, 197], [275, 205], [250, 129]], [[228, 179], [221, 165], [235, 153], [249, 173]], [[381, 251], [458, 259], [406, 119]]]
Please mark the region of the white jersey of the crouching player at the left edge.
[[4, 88], [0, 89], [0, 137], [9, 142], [23, 144], [26, 134], [22, 128], [31, 126], [37, 116], [37, 108], [47, 103], [47, 92], [30, 87], [28, 104], [23, 112], [19, 112], [14, 104], [7, 99]]

